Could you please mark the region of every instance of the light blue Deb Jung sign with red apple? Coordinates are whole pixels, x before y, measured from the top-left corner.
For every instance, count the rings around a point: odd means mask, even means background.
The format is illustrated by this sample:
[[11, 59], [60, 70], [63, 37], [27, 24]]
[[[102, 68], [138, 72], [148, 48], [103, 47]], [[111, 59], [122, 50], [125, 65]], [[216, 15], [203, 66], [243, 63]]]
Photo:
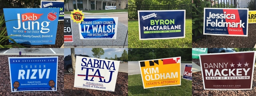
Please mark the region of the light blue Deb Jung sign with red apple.
[[[60, 8], [4, 8], [7, 33], [17, 43], [55, 44]], [[9, 21], [11, 20], [11, 21]], [[9, 42], [13, 43], [11, 40]]]

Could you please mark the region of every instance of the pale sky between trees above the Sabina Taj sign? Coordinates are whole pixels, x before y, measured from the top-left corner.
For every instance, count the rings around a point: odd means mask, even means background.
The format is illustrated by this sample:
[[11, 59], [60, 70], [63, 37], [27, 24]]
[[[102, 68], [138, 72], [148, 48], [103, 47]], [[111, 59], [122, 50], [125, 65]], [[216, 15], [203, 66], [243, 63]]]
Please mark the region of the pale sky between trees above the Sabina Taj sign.
[[[103, 48], [105, 53], [100, 58], [101, 59], [105, 59], [105, 57], [115, 58], [115, 54], [117, 55], [117, 57], [121, 57], [124, 49], [128, 52], [128, 48]], [[75, 48], [75, 54], [89, 55], [91, 57], [94, 57], [92, 55], [93, 52], [91, 50], [92, 48]], [[64, 48], [64, 57], [70, 54], [71, 54], [70, 48]]]

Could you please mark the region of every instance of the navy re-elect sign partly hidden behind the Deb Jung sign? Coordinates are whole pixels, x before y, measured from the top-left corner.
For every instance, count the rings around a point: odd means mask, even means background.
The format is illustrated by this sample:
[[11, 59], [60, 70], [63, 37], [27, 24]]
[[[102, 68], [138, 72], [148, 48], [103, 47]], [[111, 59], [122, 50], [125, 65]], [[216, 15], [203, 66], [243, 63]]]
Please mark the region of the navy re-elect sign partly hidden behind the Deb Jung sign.
[[61, 1], [43, 1], [41, 0], [41, 8], [60, 8], [59, 21], [64, 20], [64, 0]]

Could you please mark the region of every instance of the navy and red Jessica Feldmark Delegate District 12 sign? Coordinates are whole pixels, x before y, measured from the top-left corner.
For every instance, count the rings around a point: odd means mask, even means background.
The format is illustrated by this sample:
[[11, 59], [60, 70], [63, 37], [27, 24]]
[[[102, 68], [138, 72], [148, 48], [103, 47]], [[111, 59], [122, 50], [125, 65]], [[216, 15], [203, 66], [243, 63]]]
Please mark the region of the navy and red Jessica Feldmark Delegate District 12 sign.
[[203, 34], [248, 36], [248, 9], [204, 8]]

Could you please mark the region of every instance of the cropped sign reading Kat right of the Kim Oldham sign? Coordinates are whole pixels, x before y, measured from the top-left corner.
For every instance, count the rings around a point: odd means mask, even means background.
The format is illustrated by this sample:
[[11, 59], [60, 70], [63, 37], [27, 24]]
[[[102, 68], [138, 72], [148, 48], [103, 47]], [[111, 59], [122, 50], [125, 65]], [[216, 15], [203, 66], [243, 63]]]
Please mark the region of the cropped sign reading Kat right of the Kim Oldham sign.
[[182, 78], [192, 80], [192, 65], [185, 64]]

